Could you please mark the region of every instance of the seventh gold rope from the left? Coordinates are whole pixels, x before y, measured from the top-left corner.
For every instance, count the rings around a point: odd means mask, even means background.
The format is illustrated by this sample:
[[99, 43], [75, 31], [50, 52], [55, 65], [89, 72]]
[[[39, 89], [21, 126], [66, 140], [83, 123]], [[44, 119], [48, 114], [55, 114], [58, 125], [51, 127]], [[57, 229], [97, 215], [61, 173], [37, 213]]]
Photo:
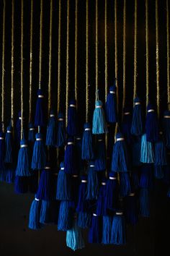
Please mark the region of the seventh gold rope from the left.
[[58, 112], [61, 105], [61, 0], [58, 1]]

